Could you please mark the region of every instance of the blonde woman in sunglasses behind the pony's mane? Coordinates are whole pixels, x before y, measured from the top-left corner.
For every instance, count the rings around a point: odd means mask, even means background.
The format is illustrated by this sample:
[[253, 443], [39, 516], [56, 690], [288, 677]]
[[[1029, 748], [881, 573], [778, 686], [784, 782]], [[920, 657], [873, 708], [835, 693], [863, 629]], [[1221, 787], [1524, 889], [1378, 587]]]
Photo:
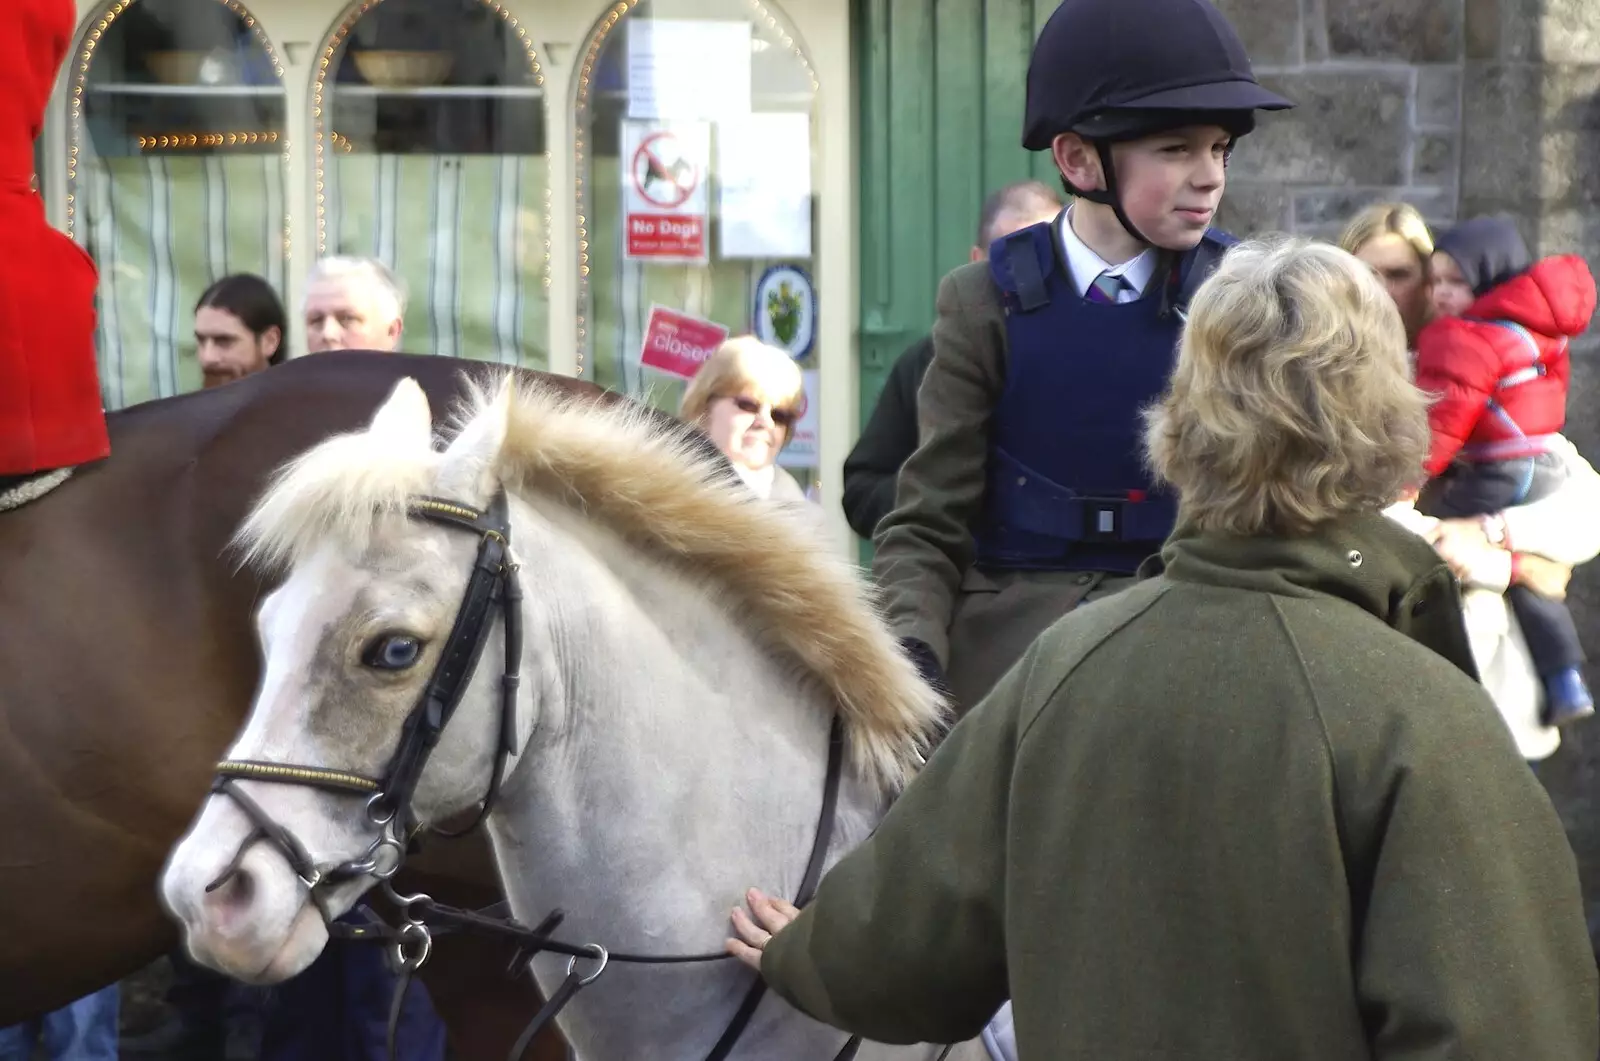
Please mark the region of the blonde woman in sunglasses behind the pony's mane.
[[704, 430], [758, 498], [805, 501], [778, 453], [805, 408], [805, 381], [786, 352], [755, 336], [728, 339], [683, 392], [678, 416]]

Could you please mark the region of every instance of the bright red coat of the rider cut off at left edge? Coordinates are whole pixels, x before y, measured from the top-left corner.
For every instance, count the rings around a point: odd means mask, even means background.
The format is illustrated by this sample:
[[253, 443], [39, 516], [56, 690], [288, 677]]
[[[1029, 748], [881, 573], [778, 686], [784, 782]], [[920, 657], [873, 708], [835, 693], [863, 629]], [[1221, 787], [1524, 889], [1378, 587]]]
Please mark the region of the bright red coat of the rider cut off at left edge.
[[94, 262], [45, 221], [34, 141], [72, 43], [72, 0], [0, 0], [0, 475], [106, 456]]

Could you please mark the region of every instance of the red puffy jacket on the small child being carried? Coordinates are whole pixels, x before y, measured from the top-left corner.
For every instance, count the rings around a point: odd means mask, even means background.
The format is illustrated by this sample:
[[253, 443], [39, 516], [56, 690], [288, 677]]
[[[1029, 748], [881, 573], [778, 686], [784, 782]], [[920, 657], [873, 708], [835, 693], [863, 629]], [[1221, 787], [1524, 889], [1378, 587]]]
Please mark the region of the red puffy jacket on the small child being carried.
[[1438, 475], [1456, 454], [1502, 461], [1541, 453], [1539, 437], [1566, 422], [1568, 341], [1594, 312], [1589, 266], [1562, 254], [1493, 288], [1466, 315], [1422, 328], [1416, 382], [1438, 395], [1427, 416], [1427, 474]]

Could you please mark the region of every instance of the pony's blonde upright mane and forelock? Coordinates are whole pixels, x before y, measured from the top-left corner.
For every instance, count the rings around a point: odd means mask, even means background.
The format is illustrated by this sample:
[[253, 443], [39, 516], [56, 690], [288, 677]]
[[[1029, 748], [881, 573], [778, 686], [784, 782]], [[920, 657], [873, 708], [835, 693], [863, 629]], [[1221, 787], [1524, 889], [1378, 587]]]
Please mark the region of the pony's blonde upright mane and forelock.
[[[858, 570], [798, 515], [728, 482], [709, 446], [640, 405], [603, 406], [507, 376], [493, 394], [472, 386], [456, 422], [466, 432], [488, 416], [506, 416], [493, 470], [509, 491], [566, 506], [718, 584], [741, 627], [832, 695], [853, 767], [888, 789], [909, 781], [944, 704], [901, 653]], [[264, 565], [294, 563], [330, 539], [365, 549], [381, 522], [430, 493], [442, 456], [397, 448], [378, 430], [330, 438], [278, 474], [237, 541]]]

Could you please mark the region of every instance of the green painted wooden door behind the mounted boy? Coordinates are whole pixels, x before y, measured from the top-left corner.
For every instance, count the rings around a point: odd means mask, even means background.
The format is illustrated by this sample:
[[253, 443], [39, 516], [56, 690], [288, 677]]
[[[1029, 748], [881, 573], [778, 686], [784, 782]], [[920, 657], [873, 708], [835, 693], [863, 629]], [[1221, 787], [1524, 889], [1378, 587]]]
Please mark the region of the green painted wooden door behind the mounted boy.
[[862, 422], [901, 350], [931, 328], [939, 278], [968, 259], [984, 197], [1056, 179], [1021, 141], [1027, 58], [1058, 2], [854, 3]]

